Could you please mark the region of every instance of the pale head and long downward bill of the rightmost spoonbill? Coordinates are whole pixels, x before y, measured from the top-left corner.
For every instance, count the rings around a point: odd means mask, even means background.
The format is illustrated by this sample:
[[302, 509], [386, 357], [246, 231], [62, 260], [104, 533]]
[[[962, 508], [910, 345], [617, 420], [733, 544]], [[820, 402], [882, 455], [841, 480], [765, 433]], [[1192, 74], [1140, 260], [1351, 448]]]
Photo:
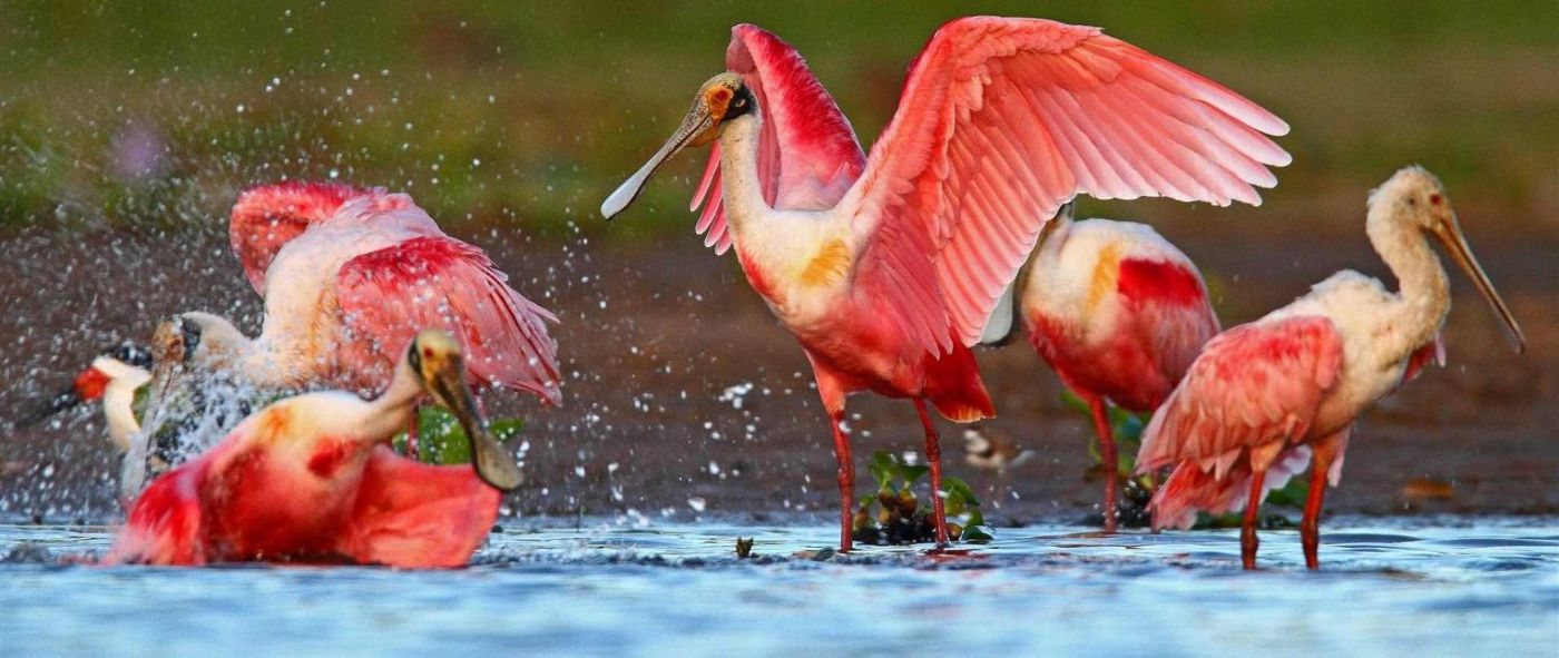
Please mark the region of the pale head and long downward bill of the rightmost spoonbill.
[[1526, 337], [1522, 334], [1520, 324], [1515, 323], [1515, 317], [1511, 315], [1511, 309], [1500, 298], [1500, 293], [1494, 290], [1489, 274], [1483, 271], [1478, 257], [1472, 254], [1472, 246], [1467, 246], [1467, 237], [1462, 235], [1456, 210], [1451, 209], [1445, 186], [1439, 178], [1419, 165], [1403, 167], [1370, 192], [1369, 206], [1372, 210], [1377, 207], [1386, 210], [1383, 217], [1389, 217], [1394, 223], [1433, 235], [1456, 262], [1456, 267], [1467, 273], [1467, 278], [1478, 288], [1478, 295], [1494, 309], [1511, 346], [1517, 352], [1526, 349]]

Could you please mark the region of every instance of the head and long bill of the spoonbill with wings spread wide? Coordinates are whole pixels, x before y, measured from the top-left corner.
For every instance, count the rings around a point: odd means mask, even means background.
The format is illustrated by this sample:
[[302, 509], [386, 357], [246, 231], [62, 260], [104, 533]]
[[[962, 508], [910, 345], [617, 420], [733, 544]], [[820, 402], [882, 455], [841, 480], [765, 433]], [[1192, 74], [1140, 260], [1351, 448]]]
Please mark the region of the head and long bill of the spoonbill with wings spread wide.
[[610, 220], [628, 207], [639, 195], [639, 190], [644, 189], [650, 175], [683, 148], [703, 147], [714, 142], [726, 126], [742, 117], [755, 117], [756, 111], [758, 98], [747, 87], [747, 83], [742, 81], [741, 75], [725, 72], [709, 78], [708, 83], [698, 87], [698, 94], [692, 98], [692, 108], [688, 109], [688, 115], [683, 117], [681, 125], [672, 133], [672, 139], [666, 140], [659, 151], [655, 151], [633, 176], [628, 176], [600, 204], [602, 217]]

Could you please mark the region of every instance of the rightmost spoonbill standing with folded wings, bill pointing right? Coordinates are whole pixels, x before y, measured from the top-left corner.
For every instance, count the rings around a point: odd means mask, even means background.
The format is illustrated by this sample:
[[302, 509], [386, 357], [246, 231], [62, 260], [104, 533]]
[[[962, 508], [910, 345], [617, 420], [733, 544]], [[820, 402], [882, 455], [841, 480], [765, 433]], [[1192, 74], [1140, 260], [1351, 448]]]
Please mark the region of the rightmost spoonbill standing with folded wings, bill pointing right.
[[1305, 566], [1319, 566], [1320, 501], [1342, 476], [1353, 421], [1431, 359], [1444, 362], [1439, 334], [1451, 296], [1428, 235], [1472, 278], [1515, 351], [1525, 349], [1434, 175], [1408, 167], [1391, 176], [1370, 192], [1364, 228], [1398, 292], [1352, 270], [1331, 274], [1294, 302], [1210, 340], [1154, 413], [1137, 469], [1174, 466], [1149, 504], [1155, 529], [1190, 527], [1197, 510], [1243, 507], [1241, 561], [1253, 569], [1261, 499], [1308, 462], [1300, 536]]

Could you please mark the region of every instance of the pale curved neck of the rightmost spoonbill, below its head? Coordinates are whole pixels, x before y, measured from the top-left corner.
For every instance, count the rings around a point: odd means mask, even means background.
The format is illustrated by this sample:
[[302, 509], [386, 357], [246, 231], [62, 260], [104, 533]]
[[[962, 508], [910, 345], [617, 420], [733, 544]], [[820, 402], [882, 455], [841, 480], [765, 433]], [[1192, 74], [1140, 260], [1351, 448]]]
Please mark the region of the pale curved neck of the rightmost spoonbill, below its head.
[[[1450, 312], [1450, 281], [1441, 259], [1434, 256], [1423, 231], [1414, 223], [1402, 221], [1395, 207], [1370, 207], [1366, 231], [1370, 245], [1397, 278], [1400, 306], [1389, 326], [1397, 327], [1391, 337], [1383, 337], [1383, 346], [1391, 357], [1406, 359], [1412, 351], [1434, 338]], [[1395, 360], [1395, 359], [1391, 359]]]

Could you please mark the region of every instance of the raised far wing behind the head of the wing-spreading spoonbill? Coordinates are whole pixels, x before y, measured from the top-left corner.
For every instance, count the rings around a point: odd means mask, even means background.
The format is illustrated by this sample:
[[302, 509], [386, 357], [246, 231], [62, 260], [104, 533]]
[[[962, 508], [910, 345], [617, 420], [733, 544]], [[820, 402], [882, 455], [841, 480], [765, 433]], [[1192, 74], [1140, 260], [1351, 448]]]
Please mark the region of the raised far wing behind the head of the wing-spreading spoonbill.
[[[764, 201], [781, 210], [833, 207], [865, 167], [861, 142], [843, 112], [806, 67], [801, 53], [756, 25], [731, 28], [725, 67], [741, 73], [764, 112], [758, 179]], [[705, 203], [708, 201], [708, 203]], [[720, 148], [709, 153], [691, 209], [703, 206], [698, 234], [725, 253], [731, 237], [720, 196]]]

